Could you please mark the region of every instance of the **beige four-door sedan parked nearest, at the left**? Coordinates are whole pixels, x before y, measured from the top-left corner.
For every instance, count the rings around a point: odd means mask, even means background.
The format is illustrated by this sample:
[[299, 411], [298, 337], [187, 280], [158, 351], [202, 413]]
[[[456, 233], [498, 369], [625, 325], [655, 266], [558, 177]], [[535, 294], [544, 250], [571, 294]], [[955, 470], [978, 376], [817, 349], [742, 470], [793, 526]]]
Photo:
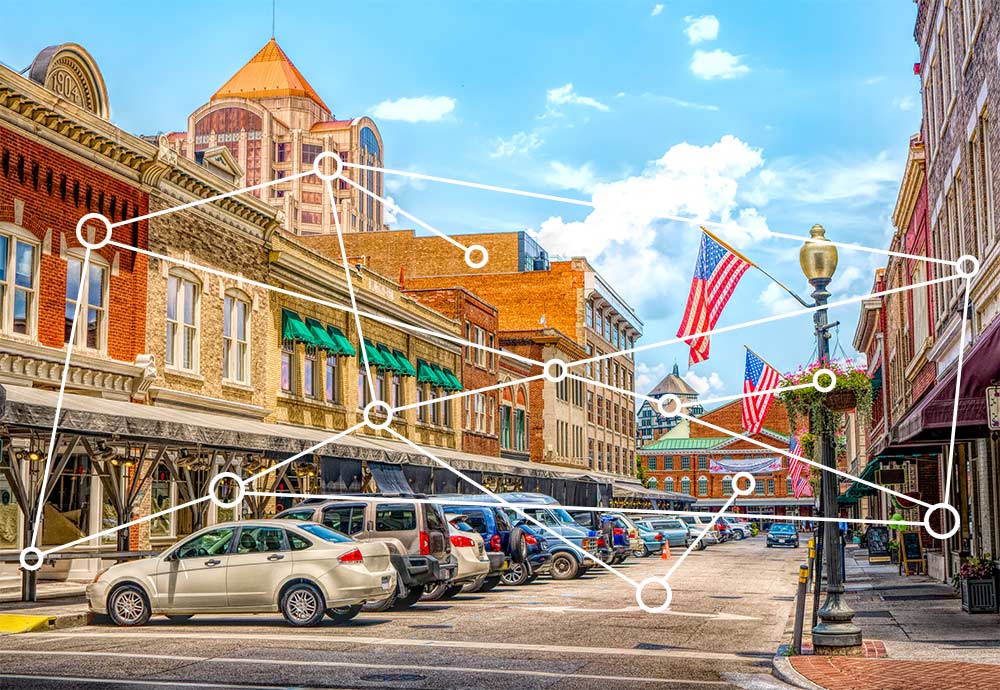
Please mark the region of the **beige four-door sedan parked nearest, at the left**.
[[158, 556], [105, 568], [87, 586], [90, 610], [116, 625], [164, 614], [280, 611], [293, 626], [326, 614], [350, 620], [396, 587], [389, 547], [314, 522], [247, 520], [206, 527]]

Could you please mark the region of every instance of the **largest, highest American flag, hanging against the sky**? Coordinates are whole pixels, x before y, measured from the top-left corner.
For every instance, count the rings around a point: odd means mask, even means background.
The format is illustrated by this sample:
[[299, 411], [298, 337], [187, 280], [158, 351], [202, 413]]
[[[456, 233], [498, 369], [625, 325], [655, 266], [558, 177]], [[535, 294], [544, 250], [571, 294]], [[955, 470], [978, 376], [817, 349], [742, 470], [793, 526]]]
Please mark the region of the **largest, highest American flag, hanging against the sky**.
[[[677, 337], [691, 346], [689, 364], [708, 359], [707, 331], [715, 328], [736, 284], [752, 265], [702, 228], [701, 249], [694, 265], [691, 292]], [[702, 334], [702, 335], [697, 335]]]

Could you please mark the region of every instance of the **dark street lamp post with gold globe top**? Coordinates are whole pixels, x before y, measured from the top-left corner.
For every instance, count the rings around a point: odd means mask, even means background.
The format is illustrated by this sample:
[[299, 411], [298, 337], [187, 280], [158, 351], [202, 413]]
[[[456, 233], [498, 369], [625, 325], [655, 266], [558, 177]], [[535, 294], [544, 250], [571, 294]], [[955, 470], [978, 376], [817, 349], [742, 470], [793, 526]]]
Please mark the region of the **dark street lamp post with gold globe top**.
[[[799, 263], [809, 284], [813, 287], [814, 305], [821, 307], [813, 313], [816, 330], [816, 351], [820, 361], [830, 357], [830, 327], [827, 322], [826, 303], [830, 299], [827, 287], [837, 270], [837, 247], [827, 240], [822, 225], [814, 225], [809, 230], [807, 240], [799, 250]], [[824, 470], [837, 468], [837, 454], [832, 433], [833, 413], [826, 408], [819, 412], [821, 419], [814, 420], [819, 425], [817, 443], [822, 453]], [[813, 628], [813, 647], [820, 654], [851, 654], [861, 646], [861, 629], [854, 624], [854, 611], [844, 601], [844, 579], [841, 572], [842, 555], [839, 548], [840, 530], [837, 520], [837, 475], [824, 471], [822, 480], [823, 543], [826, 555], [826, 601], [818, 615], [820, 622]]]

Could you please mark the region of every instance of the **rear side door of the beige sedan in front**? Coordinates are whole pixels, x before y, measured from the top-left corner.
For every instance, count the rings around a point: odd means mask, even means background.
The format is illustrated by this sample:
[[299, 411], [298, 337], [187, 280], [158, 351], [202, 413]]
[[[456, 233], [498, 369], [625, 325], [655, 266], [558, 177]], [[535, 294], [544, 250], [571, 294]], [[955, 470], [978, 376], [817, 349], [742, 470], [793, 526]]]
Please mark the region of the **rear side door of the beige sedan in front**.
[[270, 609], [278, 588], [292, 573], [292, 558], [285, 530], [244, 525], [233, 544], [226, 568], [229, 606]]

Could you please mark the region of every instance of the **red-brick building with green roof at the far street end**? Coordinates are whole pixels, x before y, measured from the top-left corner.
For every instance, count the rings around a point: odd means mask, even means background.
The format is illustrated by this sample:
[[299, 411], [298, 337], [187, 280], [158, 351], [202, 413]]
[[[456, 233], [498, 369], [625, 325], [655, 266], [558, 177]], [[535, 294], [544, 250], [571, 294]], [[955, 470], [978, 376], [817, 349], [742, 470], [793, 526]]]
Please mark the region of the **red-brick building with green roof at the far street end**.
[[[743, 434], [739, 400], [706, 412], [701, 420]], [[785, 449], [789, 442], [788, 413], [775, 402], [760, 433], [751, 438]], [[813, 498], [795, 498], [788, 480], [788, 458], [747, 441], [725, 436], [698, 422], [682, 420], [659, 439], [639, 449], [649, 486], [679, 491], [698, 499], [697, 507], [720, 508], [733, 492], [733, 476], [750, 472], [755, 493], [740, 498], [733, 512], [764, 515], [811, 515]]]

